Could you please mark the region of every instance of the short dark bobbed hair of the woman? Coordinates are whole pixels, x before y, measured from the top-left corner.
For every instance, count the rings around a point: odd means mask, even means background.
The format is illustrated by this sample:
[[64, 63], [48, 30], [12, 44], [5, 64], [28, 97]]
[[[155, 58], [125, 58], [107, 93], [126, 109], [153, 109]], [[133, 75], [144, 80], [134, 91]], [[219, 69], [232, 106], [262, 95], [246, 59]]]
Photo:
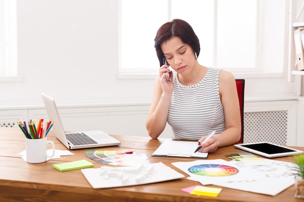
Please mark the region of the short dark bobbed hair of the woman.
[[192, 27], [185, 20], [173, 19], [172, 21], [163, 24], [158, 29], [154, 39], [154, 47], [160, 66], [164, 64], [164, 53], [160, 48], [160, 45], [173, 36], [180, 37], [183, 43], [192, 47], [193, 51], [196, 53], [196, 57], [199, 57], [201, 50], [200, 41]]

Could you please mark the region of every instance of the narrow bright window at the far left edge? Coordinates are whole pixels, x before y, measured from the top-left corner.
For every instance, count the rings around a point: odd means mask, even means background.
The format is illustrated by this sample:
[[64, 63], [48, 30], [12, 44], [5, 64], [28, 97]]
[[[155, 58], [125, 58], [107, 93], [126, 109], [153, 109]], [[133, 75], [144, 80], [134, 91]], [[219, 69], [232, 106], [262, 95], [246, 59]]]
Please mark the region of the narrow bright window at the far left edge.
[[0, 0], [0, 76], [17, 76], [16, 0]]

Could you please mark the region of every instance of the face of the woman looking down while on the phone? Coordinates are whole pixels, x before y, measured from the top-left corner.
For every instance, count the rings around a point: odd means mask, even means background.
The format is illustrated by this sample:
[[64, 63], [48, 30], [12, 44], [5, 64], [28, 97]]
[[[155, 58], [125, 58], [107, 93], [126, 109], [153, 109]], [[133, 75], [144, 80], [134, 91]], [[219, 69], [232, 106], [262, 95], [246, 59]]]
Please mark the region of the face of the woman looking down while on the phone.
[[174, 36], [160, 45], [169, 65], [179, 74], [191, 72], [196, 57], [191, 46], [184, 44], [181, 38]]

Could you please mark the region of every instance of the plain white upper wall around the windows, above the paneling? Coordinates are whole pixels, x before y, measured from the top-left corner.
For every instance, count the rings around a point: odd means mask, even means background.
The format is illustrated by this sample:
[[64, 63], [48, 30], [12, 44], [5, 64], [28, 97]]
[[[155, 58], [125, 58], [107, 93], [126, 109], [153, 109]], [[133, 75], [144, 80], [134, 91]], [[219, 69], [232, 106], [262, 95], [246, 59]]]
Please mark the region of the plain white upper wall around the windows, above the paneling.
[[[41, 92], [59, 106], [149, 103], [154, 79], [117, 78], [118, 26], [118, 0], [17, 0], [18, 72], [24, 80], [0, 83], [0, 109], [41, 106]], [[278, 42], [285, 53], [287, 39]], [[275, 77], [236, 75], [246, 79], [245, 100], [295, 95], [287, 57], [282, 65], [285, 74]]]

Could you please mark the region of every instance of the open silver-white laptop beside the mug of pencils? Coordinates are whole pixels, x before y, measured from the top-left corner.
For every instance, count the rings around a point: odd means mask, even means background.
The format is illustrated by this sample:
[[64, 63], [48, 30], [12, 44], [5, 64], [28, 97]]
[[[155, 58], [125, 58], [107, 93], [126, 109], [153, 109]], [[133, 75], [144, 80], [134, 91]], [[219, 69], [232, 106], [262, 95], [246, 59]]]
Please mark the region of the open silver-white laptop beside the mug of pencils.
[[[105, 147], [120, 144], [120, 141], [101, 130], [65, 133], [54, 99], [44, 93], [41, 93], [41, 95], [45, 108], [47, 109], [48, 116], [54, 121], [52, 130], [56, 138], [60, 140], [68, 149]], [[81, 143], [81, 140], [79, 139], [88, 140]]]

